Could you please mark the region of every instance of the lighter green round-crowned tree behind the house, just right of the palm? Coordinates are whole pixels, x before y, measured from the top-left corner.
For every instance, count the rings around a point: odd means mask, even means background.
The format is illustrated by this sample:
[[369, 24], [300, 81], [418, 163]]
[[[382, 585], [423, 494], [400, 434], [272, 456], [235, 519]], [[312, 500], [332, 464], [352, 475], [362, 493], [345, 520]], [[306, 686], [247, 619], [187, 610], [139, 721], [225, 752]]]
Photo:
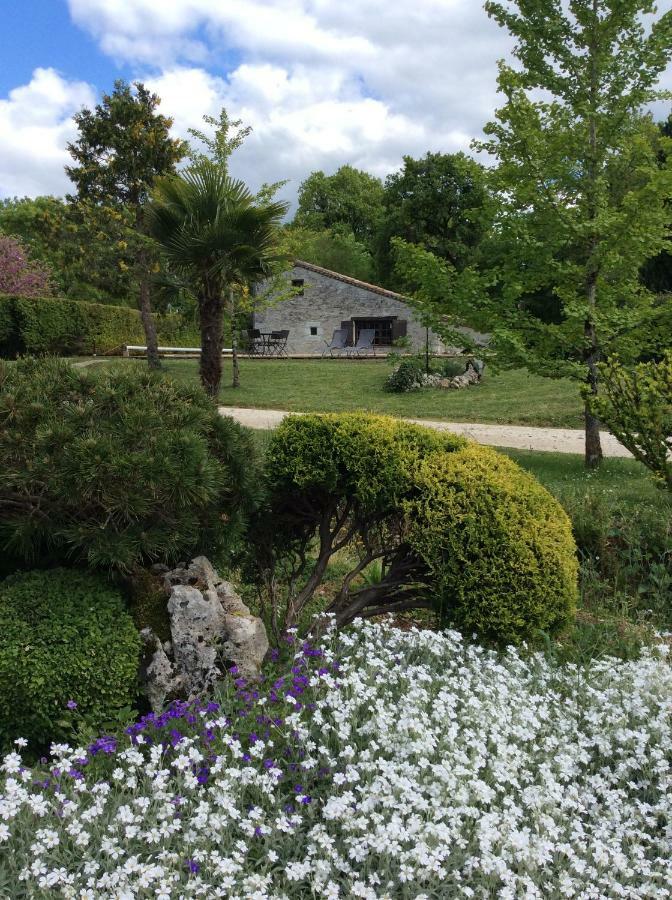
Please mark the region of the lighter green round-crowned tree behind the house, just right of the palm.
[[333, 175], [313, 172], [301, 184], [294, 224], [316, 231], [346, 226], [372, 250], [383, 215], [382, 181], [341, 166]]

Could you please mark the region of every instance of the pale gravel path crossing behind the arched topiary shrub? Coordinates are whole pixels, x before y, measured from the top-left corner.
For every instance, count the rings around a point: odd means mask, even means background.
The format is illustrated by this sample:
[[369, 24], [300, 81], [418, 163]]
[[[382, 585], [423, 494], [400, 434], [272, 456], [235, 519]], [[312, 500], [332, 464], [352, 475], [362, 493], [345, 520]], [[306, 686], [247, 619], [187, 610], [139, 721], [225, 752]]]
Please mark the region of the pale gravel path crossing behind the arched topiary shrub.
[[[279, 409], [242, 409], [236, 406], [220, 406], [223, 416], [231, 416], [248, 428], [277, 428], [285, 416], [300, 415]], [[404, 419], [437, 431], [452, 431], [492, 447], [513, 447], [517, 450], [549, 450], [555, 453], [578, 453], [584, 451], [583, 431], [573, 428], [530, 428], [525, 425], [476, 425], [469, 422], [437, 422], [433, 419]], [[631, 454], [616, 438], [602, 434], [602, 449], [605, 456], [631, 457]]]

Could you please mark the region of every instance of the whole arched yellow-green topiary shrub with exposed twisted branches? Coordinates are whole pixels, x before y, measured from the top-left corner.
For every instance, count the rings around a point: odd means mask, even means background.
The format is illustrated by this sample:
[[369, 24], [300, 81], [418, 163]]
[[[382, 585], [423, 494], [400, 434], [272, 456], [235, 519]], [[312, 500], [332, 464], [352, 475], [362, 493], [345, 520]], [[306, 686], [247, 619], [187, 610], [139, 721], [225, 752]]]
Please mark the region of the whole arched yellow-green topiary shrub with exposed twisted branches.
[[[302, 416], [271, 439], [267, 479], [254, 565], [276, 631], [299, 620], [346, 548], [352, 565], [329, 606], [339, 625], [424, 607], [506, 643], [556, 633], [571, 618], [569, 520], [495, 451], [384, 417]], [[380, 577], [367, 578], [374, 562]]]

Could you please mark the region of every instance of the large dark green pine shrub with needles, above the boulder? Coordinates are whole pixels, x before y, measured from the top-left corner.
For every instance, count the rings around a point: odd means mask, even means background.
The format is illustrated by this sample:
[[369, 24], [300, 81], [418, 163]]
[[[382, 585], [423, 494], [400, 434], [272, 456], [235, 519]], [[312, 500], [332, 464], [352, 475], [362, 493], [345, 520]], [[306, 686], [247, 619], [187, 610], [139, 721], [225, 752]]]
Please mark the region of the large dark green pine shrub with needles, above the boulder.
[[233, 550], [251, 439], [203, 391], [146, 369], [0, 362], [0, 558], [131, 571]]

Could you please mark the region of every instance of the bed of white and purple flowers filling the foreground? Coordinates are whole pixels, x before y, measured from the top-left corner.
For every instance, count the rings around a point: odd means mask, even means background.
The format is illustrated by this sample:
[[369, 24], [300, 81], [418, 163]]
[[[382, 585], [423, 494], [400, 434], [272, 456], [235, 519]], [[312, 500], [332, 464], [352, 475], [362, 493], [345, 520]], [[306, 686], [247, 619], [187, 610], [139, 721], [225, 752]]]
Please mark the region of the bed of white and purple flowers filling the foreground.
[[672, 897], [662, 652], [560, 668], [368, 623], [285, 670], [17, 747], [0, 897]]

